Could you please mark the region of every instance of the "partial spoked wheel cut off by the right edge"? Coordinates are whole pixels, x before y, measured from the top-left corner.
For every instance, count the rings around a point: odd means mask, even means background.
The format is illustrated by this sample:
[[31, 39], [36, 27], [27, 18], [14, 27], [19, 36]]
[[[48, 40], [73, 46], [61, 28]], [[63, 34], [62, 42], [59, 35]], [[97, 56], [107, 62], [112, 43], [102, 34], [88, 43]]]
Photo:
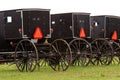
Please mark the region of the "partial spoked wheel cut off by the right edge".
[[110, 44], [113, 47], [113, 60], [112, 64], [119, 64], [120, 63], [120, 45], [118, 42], [110, 40]]

